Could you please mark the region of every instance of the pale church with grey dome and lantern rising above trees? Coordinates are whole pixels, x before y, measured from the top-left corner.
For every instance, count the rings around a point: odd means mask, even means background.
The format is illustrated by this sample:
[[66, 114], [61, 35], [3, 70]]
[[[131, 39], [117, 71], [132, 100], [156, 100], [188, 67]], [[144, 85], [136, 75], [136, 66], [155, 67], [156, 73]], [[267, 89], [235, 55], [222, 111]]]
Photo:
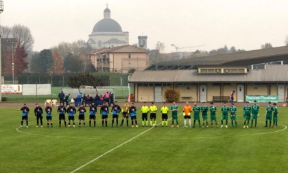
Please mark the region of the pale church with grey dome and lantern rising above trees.
[[122, 32], [121, 25], [111, 19], [111, 11], [107, 5], [104, 10], [104, 19], [94, 25], [87, 43], [91, 45], [92, 49], [128, 45], [129, 32]]

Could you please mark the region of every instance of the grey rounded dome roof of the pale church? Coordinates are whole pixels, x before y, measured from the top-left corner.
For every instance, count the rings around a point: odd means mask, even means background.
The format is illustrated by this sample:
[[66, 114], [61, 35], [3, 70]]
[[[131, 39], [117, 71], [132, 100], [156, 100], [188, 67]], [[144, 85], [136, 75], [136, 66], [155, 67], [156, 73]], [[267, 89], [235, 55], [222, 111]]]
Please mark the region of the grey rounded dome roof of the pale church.
[[[108, 8], [105, 10], [107, 9]], [[122, 28], [119, 23], [113, 19], [102, 19], [94, 25], [93, 32], [122, 32]]]

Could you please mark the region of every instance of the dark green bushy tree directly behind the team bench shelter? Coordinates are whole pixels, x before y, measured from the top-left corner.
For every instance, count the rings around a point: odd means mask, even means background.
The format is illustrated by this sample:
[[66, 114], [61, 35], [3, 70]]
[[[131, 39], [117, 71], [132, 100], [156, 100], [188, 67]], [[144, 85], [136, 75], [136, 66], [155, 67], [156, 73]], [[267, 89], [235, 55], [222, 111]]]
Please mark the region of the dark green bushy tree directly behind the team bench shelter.
[[95, 78], [91, 73], [80, 73], [77, 76], [70, 76], [67, 82], [68, 86], [74, 89], [81, 85], [88, 85], [92, 87], [101, 87], [107, 85], [106, 82], [100, 78]]

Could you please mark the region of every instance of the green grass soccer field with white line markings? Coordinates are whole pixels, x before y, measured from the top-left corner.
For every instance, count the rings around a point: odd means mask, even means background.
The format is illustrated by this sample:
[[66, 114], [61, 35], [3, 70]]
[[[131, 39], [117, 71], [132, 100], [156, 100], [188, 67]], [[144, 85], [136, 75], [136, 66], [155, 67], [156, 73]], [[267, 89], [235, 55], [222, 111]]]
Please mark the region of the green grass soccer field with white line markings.
[[[265, 108], [261, 107], [257, 128], [238, 127], [139, 128], [58, 126], [53, 109], [53, 128], [36, 128], [30, 107], [29, 128], [19, 128], [21, 112], [15, 107], [0, 107], [0, 172], [287, 172], [288, 109], [280, 107], [278, 128], [264, 128]], [[158, 108], [159, 109], [159, 108]], [[181, 108], [180, 108], [181, 110]], [[241, 108], [239, 108], [241, 110]], [[182, 111], [179, 111], [181, 113]], [[75, 119], [77, 119], [77, 115]], [[171, 117], [171, 114], [169, 114]], [[208, 116], [210, 117], [210, 115]], [[157, 114], [160, 123], [160, 113]], [[218, 126], [221, 117], [217, 113]], [[119, 120], [121, 122], [121, 120]], [[202, 122], [202, 121], [201, 121]], [[129, 121], [130, 125], [131, 122]], [[125, 124], [125, 122], [124, 122]], [[25, 125], [25, 122], [24, 122]], [[202, 125], [202, 124], [201, 124]]]

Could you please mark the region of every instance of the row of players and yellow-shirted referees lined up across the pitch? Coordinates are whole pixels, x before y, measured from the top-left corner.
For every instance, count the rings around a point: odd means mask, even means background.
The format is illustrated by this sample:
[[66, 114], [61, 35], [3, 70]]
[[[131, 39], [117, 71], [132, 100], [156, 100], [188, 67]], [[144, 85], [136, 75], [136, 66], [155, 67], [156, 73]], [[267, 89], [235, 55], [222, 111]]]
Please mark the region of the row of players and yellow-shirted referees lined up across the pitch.
[[[199, 126], [200, 125], [200, 113], [202, 113], [202, 128], [205, 127], [205, 122], [206, 122], [206, 127], [208, 127], [208, 111], [210, 111], [211, 115], [211, 127], [214, 126], [213, 122], [215, 122], [215, 126], [218, 127], [217, 125], [217, 118], [216, 118], [216, 111], [217, 107], [214, 106], [213, 102], [210, 103], [211, 106], [208, 107], [206, 106], [206, 102], [202, 103], [202, 106], [197, 106], [197, 102], [194, 103], [193, 108], [189, 105], [189, 102], [185, 104], [183, 107], [183, 116], [184, 116], [184, 127], [187, 126], [187, 120], [189, 122], [189, 127], [195, 128], [196, 121], [198, 122]], [[28, 116], [29, 116], [29, 108], [24, 104], [24, 106], [19, 110], [22, 111], [22, 121], [21, 121], [21, 127], [23, 127], [23, 121], [26, 121], [26, 127], [28, 128]], [[163, 103], [163, 106], [160, 108], [161, 112], [161, 118], [162, 118], [162, 126], [168, 126], [168, 113], [171, 111], [171, 119], [172, 119], [172, 125], [171, 127], [174, 127], [174, 121], [176, 121], [176, 127], [179, 128], [179, 122], [178, 122], [178, 111], [179, 108], [176, 105], [175, 102], [173, 102], [171, 108], [169, 109], [165, 103]], [[191, 112], [193, 111], [193, 126], [191, 126]], [[59, 114], [59, 126], [61, 127], [61, 121], [63, 120], [64, 126], [67, 126], [66, 123], [66, 117], [65, 113], [68, 114], [68, 127], [71, 126], [71, 123], [73, 124], [73, 127], [75, 127], [75, 114], [78, 113], [78, 119], [79, 119], [79, 127], [81, 127], [81, 123], [83, 122], [83, 126], [85, 127], [85, 113], [86, 113], [86, 108], [84, 107], [83, 104], [78, 108], [76, 111], [75, 107], [69, 104], [69, 106], [65, 107], [63, 103], [58, 106], [57, 110]], [[89, 107], [89, 126], [91, 126], [91, 122], [94, 123], [94, 126], [96, 126], [96, 115], [97, 115], [97, 106], [95, 106], [95, 103], [93, 102], [91, 106]], [[126, 119], [126, 125], [128, 126], [128, 119], [129, 115], [131, 117], [131, 122], [132, 122], [132, 127], [134, 127], [134, 124], [136, 127], [138, 127], [137, 124], [137, 118], [136, 118], [136, 106], [134, 106], [134, 103], [132, 103], [132, 106], [128, 104], [126, 101], [125, 104], [122, 106], [122, 108], [115, 102], [115, 105], [112, 106], [110, 113], [112, 114], [112, 127], [114, 126], [115, 119], [116, 119], [116, 126], [118, 126], [118, 118], [119, 114], [122, 112], [122, 120], [121, 120], [121, 125], [123, 126], [124, 120]], [[147, 106], [146, 102], [143, 103], [143, 106], [141, 107], [141, 113], [142, 113], [142, 126], [148, 126], [148, 113], [150, 113], [150, 127], [152, 126], [157, 126], [157, 120], [156, 120], [156, 112], [157, 112], [157, 107], [154, 105], [154, 102], [151, 102], [151, 106]], [[45, 113], [46, 113], [46, 119], [47, 119], [47, 127], [51, 125], [53, 127], [53, 122], [52, 122], [52, 108], [49, 106], [49, 104], [46, 104], [45, 107]], [[268, 106], [266, 107], [266, 122], [265, 122], [265, 127], [267, 127], [267, 122], [269, 120], [269, 127], [271, 127], [272, 123], [272, 113], [273, 114], [273, 126], [274, 128], [277, 127], [277, 122], [278, 122], [278, 108], [276, 106], [276, 103], [271, 105], [271, 102], [268, 103]], [[107, 119], [108, 119], [108, 114], [109, 114], [109, 107], [108, 103], [104, 102], [103, 105], [100, 107], [100, 115], [102, 119], [102, 126], [107, 127]], [[228, 128], [228, 114], [230, 114], [230, 119], [231, 119], [231, 124], [232, 127], [237, 127], [237, 108], [234, 106], [232, 103], [230, 108], [224, 103], [224, 106], [221, 107], [221, 128], [224, 127], [224, 120], [226, 121], [226, 128]], [[43, 127], [43, 108], [41, 108], [38, 104], [35, 104], [34, 108], [34, 115], [36, 117], [36, 122], [37, 126], [39, 126], [39, 121], [40, 121], [40, 126]], [[249, 102], [246, 102], [246, 105], [243, 107], [243, 117], [244, 117], [244, 126], [243, 128], [249, 128], [249, 122], [250, 119], [252, 119], [251, 122], [251, 128], [253, 126], [253, 122], [255, 120], [255, 125], [256, 127], [257, 124], [257, 119], [259, 117], [259, 105], [257, 104], [256, 100], [254, 101], [254, 104], [252, 106], [249, 106]]]

